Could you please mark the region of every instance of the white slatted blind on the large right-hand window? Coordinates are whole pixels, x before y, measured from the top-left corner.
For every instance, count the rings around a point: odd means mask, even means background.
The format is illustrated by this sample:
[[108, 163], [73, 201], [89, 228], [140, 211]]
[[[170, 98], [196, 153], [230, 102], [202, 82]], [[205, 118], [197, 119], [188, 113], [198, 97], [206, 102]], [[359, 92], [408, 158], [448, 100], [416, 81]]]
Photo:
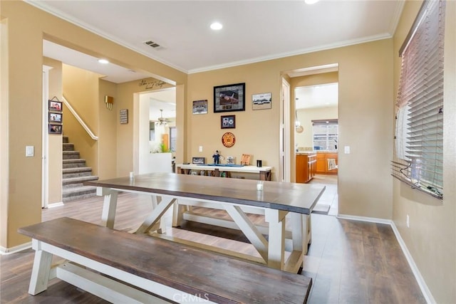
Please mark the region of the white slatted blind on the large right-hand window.
[[393, 176], [442, 197], [445, 1], [425, 1], [400, 50]]

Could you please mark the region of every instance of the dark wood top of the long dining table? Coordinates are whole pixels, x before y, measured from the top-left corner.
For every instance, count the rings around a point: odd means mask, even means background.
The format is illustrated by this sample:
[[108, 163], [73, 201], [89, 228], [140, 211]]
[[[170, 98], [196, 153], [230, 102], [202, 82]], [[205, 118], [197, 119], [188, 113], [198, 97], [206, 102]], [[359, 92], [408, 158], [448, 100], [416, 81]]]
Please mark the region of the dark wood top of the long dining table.
[[86, 186], [149, 192], [182, 198], [207, 199], [232, 204], [311, 214], [325, 189], [316, 184], [264, 181], [257, 191], [257, 180], [224, 179], [174, 173], [150, 173], [85, 182]]

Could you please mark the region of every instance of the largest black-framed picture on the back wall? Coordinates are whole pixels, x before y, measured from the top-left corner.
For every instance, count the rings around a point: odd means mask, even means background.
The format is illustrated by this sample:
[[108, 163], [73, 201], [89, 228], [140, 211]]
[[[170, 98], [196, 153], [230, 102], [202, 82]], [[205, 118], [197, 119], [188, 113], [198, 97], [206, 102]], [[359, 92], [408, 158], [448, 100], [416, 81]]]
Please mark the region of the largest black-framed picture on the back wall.
[[245, 111], [245, 83], [214, 87], [214, 113]]

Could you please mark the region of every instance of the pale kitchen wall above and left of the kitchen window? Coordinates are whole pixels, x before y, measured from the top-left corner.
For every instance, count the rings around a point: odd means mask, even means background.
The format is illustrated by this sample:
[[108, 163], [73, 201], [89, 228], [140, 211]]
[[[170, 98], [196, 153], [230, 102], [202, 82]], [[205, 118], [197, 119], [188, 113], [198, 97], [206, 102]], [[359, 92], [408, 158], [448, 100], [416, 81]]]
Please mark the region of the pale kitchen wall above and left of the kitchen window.
[[312, 120], [330, 120], [338, 118], [338, 106], [300, 109], [296, 111], [298, 121], [304, 127], [301, 133], [294, 132], [295, 147], [309, 147], [314, 149]]

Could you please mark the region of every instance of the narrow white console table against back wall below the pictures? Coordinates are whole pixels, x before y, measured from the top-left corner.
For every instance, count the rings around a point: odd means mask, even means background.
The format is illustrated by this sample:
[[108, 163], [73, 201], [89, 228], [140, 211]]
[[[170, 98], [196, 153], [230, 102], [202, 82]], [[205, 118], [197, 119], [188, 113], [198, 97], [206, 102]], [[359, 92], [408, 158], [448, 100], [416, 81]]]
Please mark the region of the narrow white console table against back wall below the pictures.
[[[259, 180], [270, 181], [271, 180], [272, 167], [256, 167], [256, 166], [225, 166], [225, 165], [207, 165], [207, 164], [176, 164], [176, 172], [180, 174], [190, 174], [192, 171], [204, 171], [209, 172], [212, 177], [221, 177], [221, 172], [225, 172], [224, 177], [229, 177], [230, 172], [239, 173], [257, 173], [259, 174]], [[205, 175], [205, 174], [204, 174]]]

